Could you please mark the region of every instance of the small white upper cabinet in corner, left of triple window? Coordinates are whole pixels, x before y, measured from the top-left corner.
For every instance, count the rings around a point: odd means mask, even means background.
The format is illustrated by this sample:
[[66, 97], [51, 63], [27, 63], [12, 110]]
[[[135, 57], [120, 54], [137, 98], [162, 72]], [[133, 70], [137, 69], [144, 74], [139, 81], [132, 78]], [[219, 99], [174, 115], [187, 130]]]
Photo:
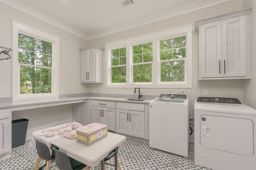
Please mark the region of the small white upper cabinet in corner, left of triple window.
[[81, 51], [81, 83], [103, 83], [103, 48], [92, 46]]

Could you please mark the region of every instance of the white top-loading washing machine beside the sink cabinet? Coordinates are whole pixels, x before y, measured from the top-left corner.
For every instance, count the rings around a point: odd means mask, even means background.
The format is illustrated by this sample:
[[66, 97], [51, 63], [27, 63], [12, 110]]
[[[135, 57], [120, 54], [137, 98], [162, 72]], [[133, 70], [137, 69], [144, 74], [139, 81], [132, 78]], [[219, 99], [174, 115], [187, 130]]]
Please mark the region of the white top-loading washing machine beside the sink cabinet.
[[149, 146], [188, 157], [189, 101], [162, 94], [149, 104]]

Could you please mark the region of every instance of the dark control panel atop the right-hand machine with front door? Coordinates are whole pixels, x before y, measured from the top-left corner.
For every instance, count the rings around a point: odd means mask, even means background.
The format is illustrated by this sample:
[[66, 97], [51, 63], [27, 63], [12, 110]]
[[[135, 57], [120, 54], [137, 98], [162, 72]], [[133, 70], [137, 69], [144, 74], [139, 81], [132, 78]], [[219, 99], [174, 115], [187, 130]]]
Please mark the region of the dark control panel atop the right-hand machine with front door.
[[228, 104], [242, 104], [237, 98], [228, 97], [198, 97], [197, 102], [206, 103], [228, 103]]

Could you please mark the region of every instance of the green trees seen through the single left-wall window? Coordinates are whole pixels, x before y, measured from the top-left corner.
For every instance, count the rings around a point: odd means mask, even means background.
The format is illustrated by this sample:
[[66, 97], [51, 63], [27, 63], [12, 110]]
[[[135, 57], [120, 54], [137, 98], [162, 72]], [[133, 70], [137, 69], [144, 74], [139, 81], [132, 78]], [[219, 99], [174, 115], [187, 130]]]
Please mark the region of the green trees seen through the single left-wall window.
[[51, 93], [52, 43], [18, 34], [20, 94]]

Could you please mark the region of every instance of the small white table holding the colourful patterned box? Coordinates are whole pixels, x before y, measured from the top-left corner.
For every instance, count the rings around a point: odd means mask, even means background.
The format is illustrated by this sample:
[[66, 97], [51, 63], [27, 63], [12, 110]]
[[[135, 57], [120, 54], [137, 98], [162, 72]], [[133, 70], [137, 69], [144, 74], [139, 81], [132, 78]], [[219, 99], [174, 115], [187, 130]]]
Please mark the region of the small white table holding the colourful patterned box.
[[104, 158], [115, 149], [115, 169], [117, 170], [117, 147], [126, 141], [126, 137], [120, 134], [108, 132], [108, 136], [86, 146], [76, 142], [75, 139], [60, 137], [51, 143], [58, 146], [59, 150], [88, 166], [94, 166], [101, 162], [101, 169], [104, 170]]

